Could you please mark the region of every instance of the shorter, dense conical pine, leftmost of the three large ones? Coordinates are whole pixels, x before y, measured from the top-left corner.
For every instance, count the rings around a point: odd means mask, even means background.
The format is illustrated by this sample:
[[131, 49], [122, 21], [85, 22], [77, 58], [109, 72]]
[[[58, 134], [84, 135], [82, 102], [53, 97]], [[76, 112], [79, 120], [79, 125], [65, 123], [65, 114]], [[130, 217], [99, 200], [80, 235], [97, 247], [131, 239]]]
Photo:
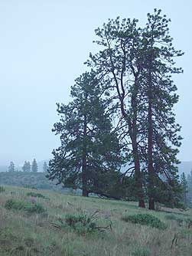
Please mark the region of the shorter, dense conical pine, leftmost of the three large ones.
[[57, 104], [60, 122], [53, 131], [60, 134], [61, 145], [53, 151], [48, 176], [64, 186], [82, 189], [83, 196], [90, 192], [107, 195], [102, 179], [122, 161], [102, 94], [96, 74], [86, 72], [71, 88], [73, 101]]

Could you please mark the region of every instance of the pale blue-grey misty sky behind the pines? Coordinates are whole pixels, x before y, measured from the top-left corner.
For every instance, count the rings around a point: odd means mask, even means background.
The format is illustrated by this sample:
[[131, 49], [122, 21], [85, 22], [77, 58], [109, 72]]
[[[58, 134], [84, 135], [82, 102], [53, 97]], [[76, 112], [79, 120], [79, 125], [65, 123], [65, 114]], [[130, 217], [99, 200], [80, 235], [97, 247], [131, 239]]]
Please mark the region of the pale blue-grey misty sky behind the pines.
[[98, 47], [94, 29], [108, 18], [138, 18], [161, 8], [171, 18], [174, 46], [185, 52], [174, 77], [175, 107], [184, 136], [179, 159], [192, 160], [192, 22], [190, 0], [0, 0], [0, 165], [49, 159], [56, 102], [67, 103], [73, 80]]

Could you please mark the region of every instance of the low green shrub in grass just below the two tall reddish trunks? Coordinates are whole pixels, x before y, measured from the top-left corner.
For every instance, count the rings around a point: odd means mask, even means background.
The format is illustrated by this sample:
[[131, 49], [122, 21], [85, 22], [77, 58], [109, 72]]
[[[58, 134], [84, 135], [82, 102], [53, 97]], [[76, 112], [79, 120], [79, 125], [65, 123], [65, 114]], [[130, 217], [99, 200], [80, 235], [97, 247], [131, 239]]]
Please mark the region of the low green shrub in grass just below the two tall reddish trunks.
[[159, 218], [147, 213], [136, 214], [136, 215], [125, 215], [122, 217], [122, 220], [125, 222], [132, 222], [135, 224], [147, 225], [152, 228], [158, 228], [162, 230], [167, 228], [167, 225], [165, 225], [164, 222], [161, 222]]

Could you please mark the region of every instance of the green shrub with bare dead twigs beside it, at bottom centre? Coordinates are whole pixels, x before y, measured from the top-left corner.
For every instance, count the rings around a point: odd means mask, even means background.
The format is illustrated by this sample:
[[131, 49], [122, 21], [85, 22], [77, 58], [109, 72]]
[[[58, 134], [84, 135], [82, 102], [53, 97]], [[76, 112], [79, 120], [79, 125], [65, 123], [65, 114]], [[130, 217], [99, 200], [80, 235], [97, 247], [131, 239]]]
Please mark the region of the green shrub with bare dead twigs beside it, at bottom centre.
[[96, 222], [87, 215], [66, 215], [65, 222], [78, 234], [86, 234], [97, 230]]

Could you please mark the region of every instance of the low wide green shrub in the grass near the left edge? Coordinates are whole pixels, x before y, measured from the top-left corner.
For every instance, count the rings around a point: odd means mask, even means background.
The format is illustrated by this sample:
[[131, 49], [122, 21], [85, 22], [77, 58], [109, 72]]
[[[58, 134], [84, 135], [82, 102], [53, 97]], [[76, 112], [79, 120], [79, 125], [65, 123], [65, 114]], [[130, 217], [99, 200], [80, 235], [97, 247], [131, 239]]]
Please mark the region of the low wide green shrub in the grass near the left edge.
[[15, 200], [15, 199], [8, 199], [5, 202], [5, 208], [8, 210], [21, 210], [28, 213], [45, 212], [45, 209], [41, 204], [24, 202], [24, 201]]

